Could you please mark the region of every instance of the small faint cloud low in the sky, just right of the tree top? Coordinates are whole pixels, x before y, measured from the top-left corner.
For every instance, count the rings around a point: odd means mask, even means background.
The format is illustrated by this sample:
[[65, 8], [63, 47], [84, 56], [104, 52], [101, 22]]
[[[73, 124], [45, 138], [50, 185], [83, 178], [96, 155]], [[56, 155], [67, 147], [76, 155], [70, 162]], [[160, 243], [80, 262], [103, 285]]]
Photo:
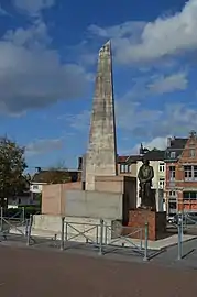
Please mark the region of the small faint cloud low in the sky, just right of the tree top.
[[42, 139], [36, 140], [25, 147], [25, 153], [29, 156], [46, 154], [52, 151], [61, 150], [63, 147], [63, 139]]

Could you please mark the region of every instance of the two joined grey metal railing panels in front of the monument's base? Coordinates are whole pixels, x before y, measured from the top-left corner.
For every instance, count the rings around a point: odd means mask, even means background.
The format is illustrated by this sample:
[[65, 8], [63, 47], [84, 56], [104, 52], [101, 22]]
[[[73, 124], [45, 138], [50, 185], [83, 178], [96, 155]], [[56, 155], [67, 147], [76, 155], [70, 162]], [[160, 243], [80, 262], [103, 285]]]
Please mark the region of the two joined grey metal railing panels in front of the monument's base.
[[[99, 255], [113, 252], [114, 250], [130, 250], [143, 256], [144, 261], [149, 260], [149, 224], [144, 228], [136, 228], [128, 234], [117, 232], [111, 226], [102, 219], [99, 223], [68, 222], [62, 218], [61, 250], [70, 249], [81, 243], [90, 244], [97, 249]], [[130, 228], [131, 229], [131, 228]], [[73, 231], [73, 232], [72, 232]], [[139, 235], [139, 237], [138, 237]], [[144, 244], [143, 244], [144, 235]], [[132, 237], [139, 238], [138, 245]], [[69, 244], [68, 244], [69, 243]], [[72, 243], [72, 245], [70, 245]]]

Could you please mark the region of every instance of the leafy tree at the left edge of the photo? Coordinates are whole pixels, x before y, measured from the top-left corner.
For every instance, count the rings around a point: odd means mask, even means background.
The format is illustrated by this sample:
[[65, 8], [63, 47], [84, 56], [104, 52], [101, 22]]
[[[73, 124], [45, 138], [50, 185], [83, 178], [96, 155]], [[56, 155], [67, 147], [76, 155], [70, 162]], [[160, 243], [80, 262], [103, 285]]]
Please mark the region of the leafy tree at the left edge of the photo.
[[20, 147], [7, 136], [0, 139], [0, 198], [17, 196], [25, 185], [23, 172], [26, 168], [24, 147]]

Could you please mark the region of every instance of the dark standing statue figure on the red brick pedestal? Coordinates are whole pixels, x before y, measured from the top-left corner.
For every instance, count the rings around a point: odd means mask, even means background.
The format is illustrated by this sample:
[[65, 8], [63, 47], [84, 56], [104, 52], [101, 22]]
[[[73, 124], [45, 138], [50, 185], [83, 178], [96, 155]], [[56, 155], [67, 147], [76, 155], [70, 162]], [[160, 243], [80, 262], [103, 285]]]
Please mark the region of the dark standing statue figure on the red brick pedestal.
[[139, 169], [141, 208], [155, 210], [155, 197], [152, 191], [152, 179], [154, 177], [153, 167], [149, 160], [143, 160], [143, 165]]

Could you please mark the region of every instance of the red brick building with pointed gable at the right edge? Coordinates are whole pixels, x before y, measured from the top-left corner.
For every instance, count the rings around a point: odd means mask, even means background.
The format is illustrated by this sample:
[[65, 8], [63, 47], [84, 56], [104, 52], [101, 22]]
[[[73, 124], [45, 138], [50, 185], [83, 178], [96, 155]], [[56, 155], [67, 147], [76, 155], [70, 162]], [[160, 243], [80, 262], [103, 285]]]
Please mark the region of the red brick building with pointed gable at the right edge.
[[168, 139], [165, 152], [165, 202], [168, 213], [197, 212], [197, 136]]

